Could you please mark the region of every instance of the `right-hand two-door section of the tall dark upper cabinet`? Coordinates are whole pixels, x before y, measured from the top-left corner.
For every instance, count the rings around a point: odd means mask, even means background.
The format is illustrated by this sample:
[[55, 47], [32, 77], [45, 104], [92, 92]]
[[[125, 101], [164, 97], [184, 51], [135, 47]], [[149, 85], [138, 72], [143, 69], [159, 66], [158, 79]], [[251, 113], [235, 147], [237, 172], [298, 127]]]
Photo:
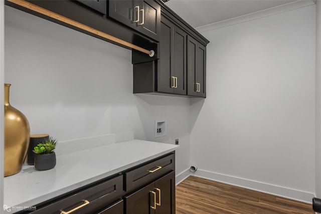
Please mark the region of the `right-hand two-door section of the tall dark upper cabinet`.
[[191, 36], [187, 40], [187, 94], [206, 97], [206, 47]]

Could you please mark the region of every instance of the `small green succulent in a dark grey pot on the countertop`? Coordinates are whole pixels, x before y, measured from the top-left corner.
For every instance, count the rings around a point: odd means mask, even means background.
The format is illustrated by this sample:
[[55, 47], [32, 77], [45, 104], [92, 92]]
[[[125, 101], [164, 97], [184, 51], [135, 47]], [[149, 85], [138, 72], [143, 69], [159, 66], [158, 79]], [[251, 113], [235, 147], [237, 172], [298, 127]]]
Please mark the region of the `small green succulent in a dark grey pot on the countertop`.
[[55, 148], [57, 145], [57, 139], [49, 137], [43, 143], [39, 143], [35, 146], [33, 152], [35, 155], [35, 169], [36, 170], [48, 170], [52, 169], [56, 165], [56, 153]]

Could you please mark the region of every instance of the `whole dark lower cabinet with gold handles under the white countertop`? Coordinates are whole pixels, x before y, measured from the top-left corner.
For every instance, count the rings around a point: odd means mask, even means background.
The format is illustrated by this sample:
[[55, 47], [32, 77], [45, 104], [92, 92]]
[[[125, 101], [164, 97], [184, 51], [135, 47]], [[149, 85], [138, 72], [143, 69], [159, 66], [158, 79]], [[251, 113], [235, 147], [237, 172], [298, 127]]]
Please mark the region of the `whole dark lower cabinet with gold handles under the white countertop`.
[[36, 204], [33, 214], [175, 214], [175, 152]]

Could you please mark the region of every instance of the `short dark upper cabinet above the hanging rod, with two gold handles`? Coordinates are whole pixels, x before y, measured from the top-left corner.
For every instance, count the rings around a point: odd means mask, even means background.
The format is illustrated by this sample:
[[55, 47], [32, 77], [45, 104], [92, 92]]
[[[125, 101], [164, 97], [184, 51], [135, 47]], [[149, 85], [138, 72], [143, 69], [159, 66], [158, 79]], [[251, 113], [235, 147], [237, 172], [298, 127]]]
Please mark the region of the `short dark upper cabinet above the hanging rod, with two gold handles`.
[[159, 41], [161, 6], [155, 1], [110, 0], [108, 2], [108, 16], [155, 41]]

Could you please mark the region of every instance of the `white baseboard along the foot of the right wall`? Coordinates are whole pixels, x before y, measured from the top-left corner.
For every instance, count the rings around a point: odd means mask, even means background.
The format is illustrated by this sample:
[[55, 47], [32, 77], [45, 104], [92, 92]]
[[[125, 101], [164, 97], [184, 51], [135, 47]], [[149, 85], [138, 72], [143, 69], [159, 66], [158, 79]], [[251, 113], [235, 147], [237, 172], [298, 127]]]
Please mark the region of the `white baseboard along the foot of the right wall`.
[[222, 183], [228, 183], [231, 185], [240, 186], [247, 189], [252, 189], [252, 190], [265, 192], [268, 194], [273, 194], [273, 195], [277, 195], [277, 196], [281, 196], [281, 197], [285, 197], [285, 198], [289, 198], [297, 201], [302, 201], [305, 203], [312, 203], [312, 198], [314, 197], [314, 194], [311, 192], [304, 192], [296, 189], [290, 189], [286, 187], [271, 185], [271, 184], [257, 182], [253, 180], [247, 180], [244, 178], [233, 177], [230, 175], [219, 174], [219, 173], [200, 170], [200, 169], [190, 174], [198, 177], [207, 178], [210, 180], [219, 181]]

